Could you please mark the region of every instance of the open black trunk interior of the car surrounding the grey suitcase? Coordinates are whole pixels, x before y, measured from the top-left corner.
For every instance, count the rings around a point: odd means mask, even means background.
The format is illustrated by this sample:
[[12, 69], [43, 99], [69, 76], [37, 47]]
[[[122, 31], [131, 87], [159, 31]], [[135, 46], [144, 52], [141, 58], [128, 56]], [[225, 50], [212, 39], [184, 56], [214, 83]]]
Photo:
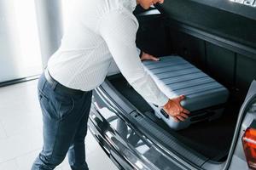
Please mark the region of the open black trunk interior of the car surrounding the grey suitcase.
[[[255, 18], [247, 16], [247, 7], [241, 11], [236, 8], [237, 12], [230, 3], [223, 2], [222, 8], [205, 3], [197, 0], [166, 1], [157, 7], [162, 14], [156, 9], [145, 13], [138, 10], [137, 47], [155, 56], [182, 56], [228, 88], [230, 99], [224, 104], [221, 117], [175, 131], [154, 115], [153, 109], [121, 74], [110, 76], [107, 81], [115, 88], [114, 93], [124, 97], [143, 115], [143, 119], [149, 120], [136, 122], [145, 124], [148, 136], [163, 141], [167, 149], [172, 148], [199, 166], [206, 161], [226, 160], [241, 103], [256, 77]], [[247, 31], [244, 31], [245, 26], [249, 27]]]

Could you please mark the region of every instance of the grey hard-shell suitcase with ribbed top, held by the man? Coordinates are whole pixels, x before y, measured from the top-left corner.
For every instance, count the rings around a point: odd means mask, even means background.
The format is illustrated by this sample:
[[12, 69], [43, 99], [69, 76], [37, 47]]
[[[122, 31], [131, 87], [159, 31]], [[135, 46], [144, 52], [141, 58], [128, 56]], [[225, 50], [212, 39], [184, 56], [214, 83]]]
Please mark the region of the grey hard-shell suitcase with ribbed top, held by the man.
[[160, 61], [143, 61], [143, 66], [169, 99], [186, 96], [181, 104], [191, 114], [184, 122], [175, 122], [158, 106], [149, 104], [169, 127], [179, 130], [191, 123], [221, 116], [221, 104], [227, 101], [229, 91], [185, 59], [172, 55], [160, 57]]

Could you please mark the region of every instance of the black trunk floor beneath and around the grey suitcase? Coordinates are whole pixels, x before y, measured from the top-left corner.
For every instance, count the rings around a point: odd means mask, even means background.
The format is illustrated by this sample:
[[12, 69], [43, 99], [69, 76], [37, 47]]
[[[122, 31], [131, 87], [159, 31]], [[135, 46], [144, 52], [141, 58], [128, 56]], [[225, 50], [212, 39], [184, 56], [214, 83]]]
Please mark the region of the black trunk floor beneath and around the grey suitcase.
[[[224, 105], [224, 114], [214, 121], [197, 122], [189, 127], [174, 131], [166, 125], [166, 122], [154, 115], [153, 109], [148, 103], [131, 88], [121, 74], [108, 77], [108, 81], [118, 90], [119, 94], [128, 99], [143, 116], [147, 116], [155, 122], [156, 126], [171, 133], [180, 143], [185, 144], [190, 149], [195, 150], [202, 156], [212, 161], [224, 161], [228, 155], [233, 133], [236, 127], [236, 119], [240, 106], [236, 102], [229, 100]], [[182, 153], [181, 153], [182, 154]]]

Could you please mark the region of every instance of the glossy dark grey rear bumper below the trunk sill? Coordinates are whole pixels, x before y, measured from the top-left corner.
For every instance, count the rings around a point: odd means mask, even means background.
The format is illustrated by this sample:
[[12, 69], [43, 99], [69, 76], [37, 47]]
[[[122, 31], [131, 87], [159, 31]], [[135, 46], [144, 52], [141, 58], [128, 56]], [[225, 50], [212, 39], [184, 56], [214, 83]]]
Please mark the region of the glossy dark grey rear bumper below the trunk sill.
[[90, 132], [119, 169], [191, 169], [166, 155], [165, 150], [125, 122], [108, 101], [99, 101], [97, 92], [94, 94], [89, 117]]

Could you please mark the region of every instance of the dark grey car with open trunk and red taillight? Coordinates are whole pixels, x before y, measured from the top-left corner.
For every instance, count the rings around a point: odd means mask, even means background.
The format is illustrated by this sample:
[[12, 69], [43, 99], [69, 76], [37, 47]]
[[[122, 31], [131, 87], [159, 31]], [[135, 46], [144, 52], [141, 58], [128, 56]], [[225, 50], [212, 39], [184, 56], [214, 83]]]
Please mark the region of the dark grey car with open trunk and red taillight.
[[166, 0], [147, 11], [137, 7], [138, 47], [182, 56], [228, 88], [230, 98], [220, 118], [175, 131], [120, 73], [107, 77], [94, 90], [89, 126], [119, 169], [256, 168], [256, 8], [250, 2]]

